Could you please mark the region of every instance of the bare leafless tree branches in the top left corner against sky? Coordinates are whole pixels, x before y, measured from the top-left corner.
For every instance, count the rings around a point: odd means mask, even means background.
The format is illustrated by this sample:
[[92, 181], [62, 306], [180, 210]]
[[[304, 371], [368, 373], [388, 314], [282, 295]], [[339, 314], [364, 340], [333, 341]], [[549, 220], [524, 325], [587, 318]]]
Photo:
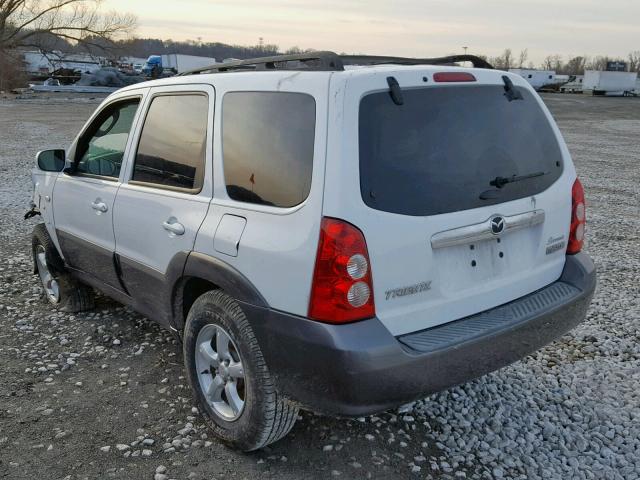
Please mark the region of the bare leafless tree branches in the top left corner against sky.
[[[0, 52], [20, 47], [42, 50], [52, 40], [98, 45], [133, 31], [130, 14], [102, 12], [101, 0], [0, 0]], [[104, 47], [104, 42], [100, 43]]]

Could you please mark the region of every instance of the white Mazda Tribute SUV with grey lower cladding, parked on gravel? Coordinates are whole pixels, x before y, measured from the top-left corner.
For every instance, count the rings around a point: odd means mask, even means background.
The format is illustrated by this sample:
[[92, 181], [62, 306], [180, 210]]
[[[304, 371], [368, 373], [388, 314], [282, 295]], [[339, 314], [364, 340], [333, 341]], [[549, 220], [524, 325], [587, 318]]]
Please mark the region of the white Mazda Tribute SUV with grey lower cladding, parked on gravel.
[[90, 286], [176, 332], [242, 450], [299, 408], [370, 414], [507, 365], [595, 288], [553, 118], [476, 57], [218, 64], [117, 91], [37, 162], [46, 297], [90, 308]]

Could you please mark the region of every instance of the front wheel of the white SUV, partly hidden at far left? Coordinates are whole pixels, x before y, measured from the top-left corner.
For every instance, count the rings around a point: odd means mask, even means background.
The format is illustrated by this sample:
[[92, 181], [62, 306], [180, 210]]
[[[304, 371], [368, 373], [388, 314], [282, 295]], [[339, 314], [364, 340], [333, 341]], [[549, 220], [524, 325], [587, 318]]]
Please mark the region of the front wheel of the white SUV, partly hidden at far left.
[[64, 262], [43, 223], [33, 229], [31, 252], [34, 273], [40, 276], [44, 298], [51, 305], [71, 313], [93, 308], [93, 290], [66, 272]]

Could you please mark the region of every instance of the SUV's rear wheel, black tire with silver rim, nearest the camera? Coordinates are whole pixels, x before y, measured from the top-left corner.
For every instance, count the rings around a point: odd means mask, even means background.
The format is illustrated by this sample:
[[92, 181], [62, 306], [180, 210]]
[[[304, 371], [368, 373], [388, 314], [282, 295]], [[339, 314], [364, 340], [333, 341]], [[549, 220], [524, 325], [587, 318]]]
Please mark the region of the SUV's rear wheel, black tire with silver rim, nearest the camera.
[[[208, 336], [213, 331], [215, 336], [209, 341]], [[216, 367], [217, 360], [211, 363], [210, 356], [200, 353], [199, 345], [202, 344], [208, 344], [215, 350], [218, 339], [225, 338], [224, 334], [231, 341], [227, 349], [228, 360], [222, 363], [229, 362], [227, 367], [231, 372], [239, 361], [242, 378], [225, 375], [222, 372], [225, 367], [220, 364]], [[249, 452], [280, 440], [293, 428], [298, 418], [298, 408], [276, 391], [247, 317], [233, 298], [220, 290], [213, 290], [195, 301], [187, 316], [183, 350], [187, 377], [198, 406], [206, 412], [210, 427], [222, 442]], [[223, 351], [224, 348], [218, 348], [213, 353], [218, 355]], [[222, 357], [222, 353], [218, 355], [218, 358]], [[210, 372], [205, 373], [203, 365], [209, 364], [213, 366]], [[203, 384], [210, 382], [211, 385], [216, 379], [222, 378], [227, 379], [223, 390], [225, 393], [220, 395], [222, 403], [214, 404], [212, 402], [216, 395], [207, 397]], [[229, 385], [232, 386], [231, 392], [235, 390], [237, 398], [243, 401], [239, 411], [229, 410], [224, 405], [225, 398], [227, 404], [233, 403], [226, 393]], [[232, 418], [234, 415], [235, 418]]]

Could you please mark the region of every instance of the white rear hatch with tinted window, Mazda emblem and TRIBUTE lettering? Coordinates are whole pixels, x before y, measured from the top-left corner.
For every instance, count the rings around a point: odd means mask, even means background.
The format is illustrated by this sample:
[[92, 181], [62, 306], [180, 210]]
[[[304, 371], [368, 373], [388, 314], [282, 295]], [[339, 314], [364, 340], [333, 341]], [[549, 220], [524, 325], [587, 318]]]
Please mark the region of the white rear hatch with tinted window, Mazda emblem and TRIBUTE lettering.
[[345, 100], [357, 103], [346, 151], [357, 148], [360, 194], [347, 219], [365, 234], [376, 313], [395, 335], [559, 278], [575, 178], [557, 127], [521, 80], [510, 76], [522, 96], [510, 100], [504, 72], [447, 84], [416, 73], [396, 75], [401, 105], [380, 78], [350, 82]]

